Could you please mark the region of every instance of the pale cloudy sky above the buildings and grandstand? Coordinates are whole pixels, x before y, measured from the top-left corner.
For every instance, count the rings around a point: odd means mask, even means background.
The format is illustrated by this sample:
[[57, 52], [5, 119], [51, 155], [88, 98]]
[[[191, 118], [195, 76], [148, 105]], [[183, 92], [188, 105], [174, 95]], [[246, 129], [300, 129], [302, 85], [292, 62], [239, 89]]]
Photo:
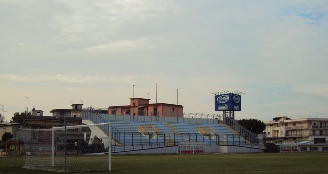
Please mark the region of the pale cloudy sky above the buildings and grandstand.
[[327, 48], [327, 0], [0, 0], [0, 109], [239, 91], [236, 119], [328, 118]]

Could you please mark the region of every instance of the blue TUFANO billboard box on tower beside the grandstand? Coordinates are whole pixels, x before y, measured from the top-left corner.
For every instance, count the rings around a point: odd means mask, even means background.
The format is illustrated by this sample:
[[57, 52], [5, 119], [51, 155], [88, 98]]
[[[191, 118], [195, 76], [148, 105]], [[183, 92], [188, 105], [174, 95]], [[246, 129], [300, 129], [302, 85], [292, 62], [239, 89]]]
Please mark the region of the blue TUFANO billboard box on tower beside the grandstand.
[[241, 111], [241, 96], [228, 93], [215, 95], [215, 111]]

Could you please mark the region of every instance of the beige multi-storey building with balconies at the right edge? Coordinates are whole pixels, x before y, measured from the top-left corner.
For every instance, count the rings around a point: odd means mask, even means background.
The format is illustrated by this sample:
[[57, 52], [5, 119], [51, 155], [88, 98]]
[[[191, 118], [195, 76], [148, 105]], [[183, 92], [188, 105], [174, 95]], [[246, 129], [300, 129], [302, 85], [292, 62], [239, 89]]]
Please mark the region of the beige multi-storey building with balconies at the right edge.
[[265, 123], [264, 140], [266, 143], [287, 143], [313, 141], [314, 144], [328, 143], [328, 118], [300, 118]]

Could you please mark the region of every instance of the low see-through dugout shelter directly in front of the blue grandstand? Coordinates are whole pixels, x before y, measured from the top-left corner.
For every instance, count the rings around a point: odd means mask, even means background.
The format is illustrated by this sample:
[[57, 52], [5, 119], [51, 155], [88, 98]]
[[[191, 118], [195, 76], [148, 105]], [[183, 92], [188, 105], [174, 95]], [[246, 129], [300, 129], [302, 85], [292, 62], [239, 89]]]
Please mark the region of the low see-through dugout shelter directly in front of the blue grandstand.
[[177, 154], [206, 154], [206, 143], [180, 143]]

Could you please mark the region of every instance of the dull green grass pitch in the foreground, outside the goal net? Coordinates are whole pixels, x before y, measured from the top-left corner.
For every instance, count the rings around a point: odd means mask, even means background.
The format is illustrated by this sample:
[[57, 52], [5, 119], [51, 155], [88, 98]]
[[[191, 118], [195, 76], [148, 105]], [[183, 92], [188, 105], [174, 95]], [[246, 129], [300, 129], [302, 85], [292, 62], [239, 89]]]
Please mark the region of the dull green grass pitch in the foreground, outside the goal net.
[[[0, 174], [59, 174], [24, 169], [25, 157], [0, 158]], [[112, 155], [112, 171], [82, 174], [328, 174], [328, 153]], [[77, 174], [77, 173], [74, 173]]]

